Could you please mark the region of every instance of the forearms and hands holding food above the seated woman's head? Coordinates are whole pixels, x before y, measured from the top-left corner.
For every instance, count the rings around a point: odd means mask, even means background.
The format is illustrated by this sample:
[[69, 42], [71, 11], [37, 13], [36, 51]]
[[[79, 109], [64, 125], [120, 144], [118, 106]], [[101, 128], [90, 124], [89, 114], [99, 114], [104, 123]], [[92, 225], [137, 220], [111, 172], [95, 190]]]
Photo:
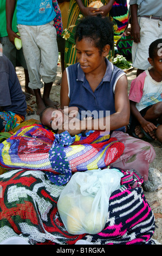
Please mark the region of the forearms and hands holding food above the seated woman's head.
[[[114, 0], [110, 0], [108, 4], [103, 5], [99, 9], [92, 8], [92, 7], [85, 7], [85, 5], [83, 5], [82, 0], [76, 0], [76, 2], [79, 5], [79, 8], [84, 16], [89, 16], [89, 15], [96, 16], [97, 14], [101, 14], [102, 16], [107, 16], [109, 11], [112, 9]], [[93, 13], [93, 11], [95, 11], [95, 13]]]

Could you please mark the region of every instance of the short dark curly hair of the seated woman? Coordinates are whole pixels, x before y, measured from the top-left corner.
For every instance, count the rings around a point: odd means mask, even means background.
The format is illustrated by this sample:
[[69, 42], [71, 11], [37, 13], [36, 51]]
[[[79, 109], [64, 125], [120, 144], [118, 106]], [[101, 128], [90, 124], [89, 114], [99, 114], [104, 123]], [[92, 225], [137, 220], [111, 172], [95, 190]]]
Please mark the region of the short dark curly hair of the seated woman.
[[75, 41], [76, 39], [81, 41], [83, 38], [94, 42], [94, 46], [99, 48], [100, 53], [105, 45], [109, 45], [113, 49], [113, 23], [108, 17], [101, 15], [84, 17], [76, 27]]

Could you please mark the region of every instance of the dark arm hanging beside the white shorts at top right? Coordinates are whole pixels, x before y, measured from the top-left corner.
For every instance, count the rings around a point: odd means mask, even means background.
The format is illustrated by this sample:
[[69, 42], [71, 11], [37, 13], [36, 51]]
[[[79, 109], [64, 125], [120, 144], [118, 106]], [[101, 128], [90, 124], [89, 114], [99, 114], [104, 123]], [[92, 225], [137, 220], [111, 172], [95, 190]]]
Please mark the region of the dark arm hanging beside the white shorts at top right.
[[140, 42], [140, 26], [138, 23], [138, 4], [130, 5], [131, 10], [131, 36], [134, 42]]

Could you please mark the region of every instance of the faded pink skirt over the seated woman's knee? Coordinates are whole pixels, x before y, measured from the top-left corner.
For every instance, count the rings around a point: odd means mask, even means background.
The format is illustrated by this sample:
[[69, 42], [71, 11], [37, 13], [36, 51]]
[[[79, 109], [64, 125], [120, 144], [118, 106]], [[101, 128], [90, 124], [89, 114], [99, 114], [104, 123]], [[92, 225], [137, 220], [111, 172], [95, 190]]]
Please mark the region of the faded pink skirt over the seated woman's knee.
[[125, 145], [124, 153], [111, 166], [123, 170], [135, 169], [146, 181], [148, 179], [149, 164], [155, 158], [155, 151], [152, 145], [120, 131], [114, 131], [111, 137], [115, 137]]

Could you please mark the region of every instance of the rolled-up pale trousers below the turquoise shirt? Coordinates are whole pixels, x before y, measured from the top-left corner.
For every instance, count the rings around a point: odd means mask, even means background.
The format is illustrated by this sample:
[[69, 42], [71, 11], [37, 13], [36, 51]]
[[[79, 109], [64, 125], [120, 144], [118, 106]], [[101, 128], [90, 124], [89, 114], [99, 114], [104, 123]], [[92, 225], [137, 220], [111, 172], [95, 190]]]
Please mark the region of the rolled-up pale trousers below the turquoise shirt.
[[41, 26], [18, 25], [32, 89], [41, 89], [43, 82], [54, 82], [57, 75], [59, 52], [53, 24], [54, 21]]

